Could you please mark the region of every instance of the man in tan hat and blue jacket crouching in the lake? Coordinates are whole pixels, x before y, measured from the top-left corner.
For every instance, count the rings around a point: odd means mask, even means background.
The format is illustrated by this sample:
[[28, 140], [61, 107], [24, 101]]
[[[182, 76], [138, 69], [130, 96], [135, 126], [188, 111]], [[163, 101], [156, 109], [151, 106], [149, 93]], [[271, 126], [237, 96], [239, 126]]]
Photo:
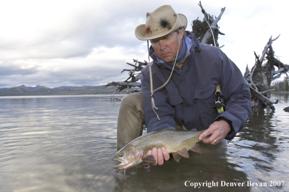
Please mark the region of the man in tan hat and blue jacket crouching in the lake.
[[[120, 106], [117, 145], [123, 147], [147, 132], [174, 127], [206, 129], [203, 143], [216, 145], [231, 140], [251, 115], [250, 89], [237, 66], [219, 49], [199, 43], [193, 33], [184, 31], [187, 19], [170, 5], [146, 14], [135, 35], [150, 40], [149, 55], [153, 61], [142, 70], [143, 93], [123, 98]], [[218, 114], [217, 84], [226, 105]], [[143, 100], [143, 102], [142, 102]], [[153, 148], [154, 165], [169, 159], [165, 147]]]

